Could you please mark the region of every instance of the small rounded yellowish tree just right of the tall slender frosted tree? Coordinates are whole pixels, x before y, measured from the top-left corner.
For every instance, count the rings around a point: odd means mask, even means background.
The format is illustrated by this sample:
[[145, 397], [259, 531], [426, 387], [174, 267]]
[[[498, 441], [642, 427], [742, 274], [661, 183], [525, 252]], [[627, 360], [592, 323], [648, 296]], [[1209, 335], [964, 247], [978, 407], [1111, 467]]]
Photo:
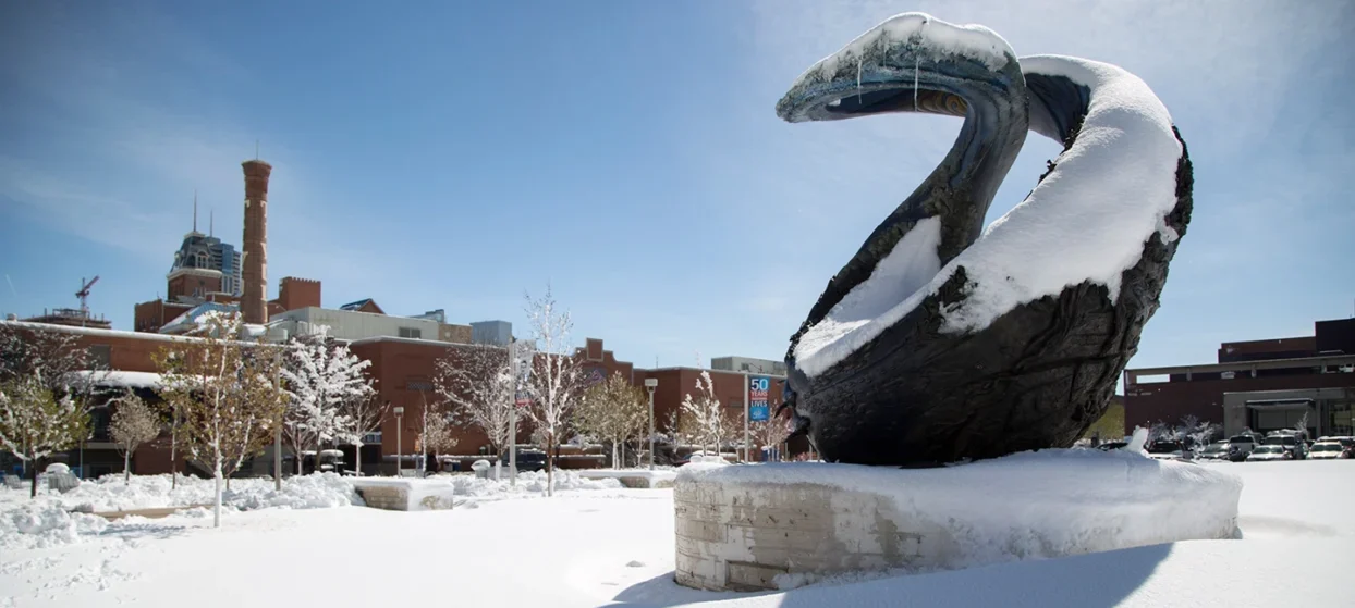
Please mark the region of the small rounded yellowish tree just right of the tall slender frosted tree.
[[614, 372], [584, 390], [575, 406], [575, 429], [611, 444], [612, 469], [621, 467], [625, 444], [649, 428], [645, 391]]

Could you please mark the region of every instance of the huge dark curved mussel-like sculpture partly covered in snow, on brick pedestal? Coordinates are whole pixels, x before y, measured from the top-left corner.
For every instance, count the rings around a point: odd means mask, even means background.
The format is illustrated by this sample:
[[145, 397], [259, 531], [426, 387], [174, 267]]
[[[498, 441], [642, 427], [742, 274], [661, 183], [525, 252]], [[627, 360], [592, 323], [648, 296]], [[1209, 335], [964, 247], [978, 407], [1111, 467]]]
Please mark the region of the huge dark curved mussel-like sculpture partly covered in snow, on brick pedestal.
[[[791, 337], [795, 432], [862, 464], [1072, 446], [1104, 413], [1190, 221], [1171, 115], [1121, 68], [1018, 60], [985, 27], [924, 14], [867, 31], [776, 104], [789, 122], [885, 112], [965, 125]], [[1027, 130], [1064, 152], [985, 230]]]

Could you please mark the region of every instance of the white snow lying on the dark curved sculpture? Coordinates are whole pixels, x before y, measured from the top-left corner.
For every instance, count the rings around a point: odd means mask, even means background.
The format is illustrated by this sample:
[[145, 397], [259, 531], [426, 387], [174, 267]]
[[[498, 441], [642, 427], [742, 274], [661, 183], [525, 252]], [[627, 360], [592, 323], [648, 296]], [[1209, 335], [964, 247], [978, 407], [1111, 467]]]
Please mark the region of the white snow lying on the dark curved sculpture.
[[[948, 43], [970, 43], [980, 34], [966, 31]], [[992, 45], [1005, 45], [996, 34], [985, 35], [995, 38]], [[839, 56], [855, 53], [854, 45]], [[847, 309], [850, 314], [843, 314], [835, 306], [824, 321], [809, 328], [795, 345], [795, 360], [805, 374], [818, 375], [874, 340], [936, 294], [961, 267], [970, 282], [969, 294], [959, 302], [943, 302], [943, 332], [981, 330], [1016, 306], [1057, 297], [1088, 280], [1106, 286], [1114, 302], [1121, 275], [1138, 263], [1144, 244], [1154, 236], [1164, 242], [1179, 237], [1165, 217], [1176, 206], [1182, 145], [1172, 131], [1171, 114], [1153, 91], [1137, 76], [1098, 61], [1033, 56], [1020, 62], [1024, 73], [1064, 76], [1091, 91], [1073, 145], [1026, 200], [901, 302], [886, 307], [888, 302], [870, 301], [862, 314]], [[902, 249], [902, 257], [924, 259], [915, 249], [925, 242], [909, 241], [911, 236], [896, 249]], [[923, 237], [917, 241], [927, 241]], [[897, 274], [893, 264], [886, 264], [894, 253], [881, 261], [877, 274]], [[850, 302], [852, 297], [856, 294], [848, 294], [839, 306], [860, 306]]]

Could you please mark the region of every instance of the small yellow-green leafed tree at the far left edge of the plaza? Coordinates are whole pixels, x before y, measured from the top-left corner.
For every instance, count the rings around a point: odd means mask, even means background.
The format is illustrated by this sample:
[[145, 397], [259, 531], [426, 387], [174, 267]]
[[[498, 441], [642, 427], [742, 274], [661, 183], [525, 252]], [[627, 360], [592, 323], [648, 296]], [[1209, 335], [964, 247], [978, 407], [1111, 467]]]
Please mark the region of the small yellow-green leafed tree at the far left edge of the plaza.
[[[69, 395], [53, 393], [41, 371], [0, 383], [0, 447], [19, 460], [41, 466], [77, 444], [88, 424], [89, 414]], [[38, 496], [37, 469], [28, 496]]]

